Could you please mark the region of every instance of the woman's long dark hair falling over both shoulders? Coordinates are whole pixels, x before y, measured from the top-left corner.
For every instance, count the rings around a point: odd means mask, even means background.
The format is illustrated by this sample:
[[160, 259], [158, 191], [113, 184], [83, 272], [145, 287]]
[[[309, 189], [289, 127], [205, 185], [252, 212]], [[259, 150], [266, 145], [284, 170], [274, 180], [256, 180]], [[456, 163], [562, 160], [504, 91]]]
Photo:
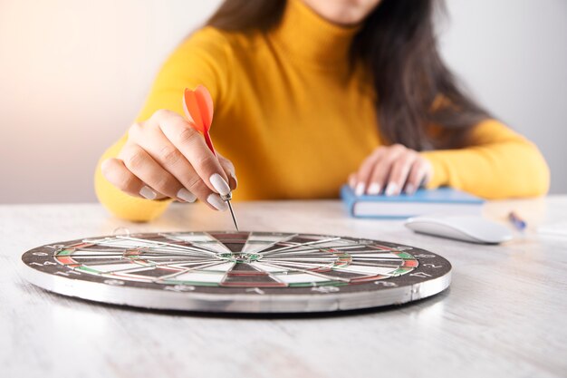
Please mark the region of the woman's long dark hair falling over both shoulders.
[[[267, 32], [280, 22], [285, 1], [225, 0], [207, 24]], [[488, 118], [437, 51], [435, 5], [442, 0], [382, 0], [351, 44], [351, 64], [364, 63], [374, 84], [380, 135], [413, 150], [461, 147], [467, 131]], [[431, 137], [430, 125], [444, 132]]]

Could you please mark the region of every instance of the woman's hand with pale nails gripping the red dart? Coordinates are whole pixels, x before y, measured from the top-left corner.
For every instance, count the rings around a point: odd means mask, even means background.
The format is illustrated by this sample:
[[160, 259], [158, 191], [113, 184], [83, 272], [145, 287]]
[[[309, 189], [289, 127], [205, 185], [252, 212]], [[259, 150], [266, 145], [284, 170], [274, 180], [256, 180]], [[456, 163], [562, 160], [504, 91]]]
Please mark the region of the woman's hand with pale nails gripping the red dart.
[[[226, 210], [226, 195], [236, 188], [235, 167], [208, 149], [203, 136], [174, 111], [156, 111], [134, 123], [116, 159], [104, 160], [102, 174], [112, 185], [145, 199], [200, 199]], [[230, 185], [228, 184], [230, 183]]]

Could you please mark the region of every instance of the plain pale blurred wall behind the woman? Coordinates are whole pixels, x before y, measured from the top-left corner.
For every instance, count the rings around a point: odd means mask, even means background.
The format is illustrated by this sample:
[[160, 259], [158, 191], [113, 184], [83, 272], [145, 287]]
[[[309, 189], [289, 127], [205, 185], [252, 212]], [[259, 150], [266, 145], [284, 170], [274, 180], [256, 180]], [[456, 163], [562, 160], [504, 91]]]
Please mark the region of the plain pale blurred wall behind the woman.
[[[102, 150], [219, 0], [0, 0], [0, 203], [95, 200]], [[447, 62], [567, 193], [567, 2], [447, 0]]]

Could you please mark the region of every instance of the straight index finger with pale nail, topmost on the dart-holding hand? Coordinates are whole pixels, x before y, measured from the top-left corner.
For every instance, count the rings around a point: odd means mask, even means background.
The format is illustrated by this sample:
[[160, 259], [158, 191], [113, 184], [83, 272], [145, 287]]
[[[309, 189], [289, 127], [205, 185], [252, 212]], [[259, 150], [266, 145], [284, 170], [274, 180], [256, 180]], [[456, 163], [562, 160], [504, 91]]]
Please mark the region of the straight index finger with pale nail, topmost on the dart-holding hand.
[[203, 136], [187, 121], [173, 111], [156, 111], [152, 121], [158, 122], [164, 135], [181, 151], [209, 189], [222, 195], [230, 192], [226, 173], [215, 154], [208, 149]]

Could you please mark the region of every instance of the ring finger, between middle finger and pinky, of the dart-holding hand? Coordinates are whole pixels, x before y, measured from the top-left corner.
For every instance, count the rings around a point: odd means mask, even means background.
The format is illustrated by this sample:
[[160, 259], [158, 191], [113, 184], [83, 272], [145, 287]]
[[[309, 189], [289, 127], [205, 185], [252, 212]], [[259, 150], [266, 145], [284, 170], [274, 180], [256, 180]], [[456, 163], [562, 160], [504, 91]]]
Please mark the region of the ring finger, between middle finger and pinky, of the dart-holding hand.
[[[139, 145], [131, 144], [125, 146], [120, 151], [118, 158], [124, 162], [124, 166], [131, 173], [145, 182], [154, 192], [163, 193], [167, 197], [178, 199], [178, 191], [183, 186]], [[144, 193], [140, 192], [140, 194], [146, 197]]]

